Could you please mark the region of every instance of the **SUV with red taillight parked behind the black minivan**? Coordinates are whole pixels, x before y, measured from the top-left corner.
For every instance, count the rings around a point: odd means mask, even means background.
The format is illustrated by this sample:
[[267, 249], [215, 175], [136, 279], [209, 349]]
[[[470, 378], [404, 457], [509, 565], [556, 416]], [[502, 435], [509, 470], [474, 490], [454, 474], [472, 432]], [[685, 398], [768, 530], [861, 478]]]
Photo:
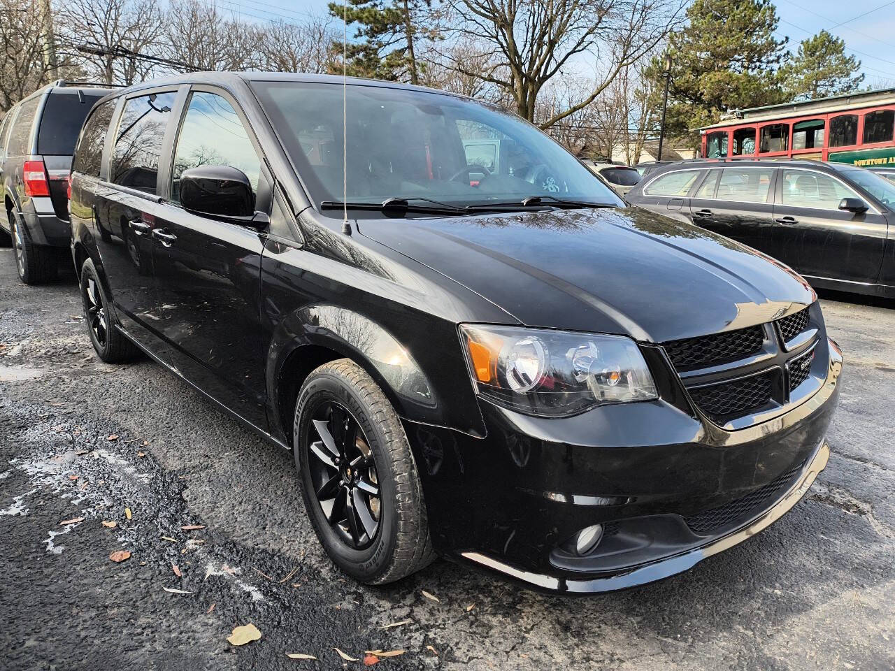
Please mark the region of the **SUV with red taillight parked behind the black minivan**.
[[68, 262], [68, 174], [81, 123], [108, 87], [55, 81], [14, 105], [0, 125], [4, 213], [0, 245], [13, 245], [27, 285], [55, 277]]

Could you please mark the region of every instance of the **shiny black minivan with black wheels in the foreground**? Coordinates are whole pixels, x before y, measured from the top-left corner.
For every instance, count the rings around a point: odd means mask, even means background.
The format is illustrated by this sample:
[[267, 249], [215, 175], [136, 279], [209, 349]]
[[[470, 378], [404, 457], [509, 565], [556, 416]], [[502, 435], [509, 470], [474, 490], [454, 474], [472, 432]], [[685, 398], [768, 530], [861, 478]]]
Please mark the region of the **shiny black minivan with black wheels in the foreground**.
[[[501, 138], [489, 174], [475, 137]], [[87, 119], [71, 210], [98, 356], [146, 352], [292, 449], [362, 582], [437, 554], [544, 590], [658, 580], [778, 519], [828, 458], [842, 356], [810, 286], [625, 208], [494, 106], [148, 82]]]

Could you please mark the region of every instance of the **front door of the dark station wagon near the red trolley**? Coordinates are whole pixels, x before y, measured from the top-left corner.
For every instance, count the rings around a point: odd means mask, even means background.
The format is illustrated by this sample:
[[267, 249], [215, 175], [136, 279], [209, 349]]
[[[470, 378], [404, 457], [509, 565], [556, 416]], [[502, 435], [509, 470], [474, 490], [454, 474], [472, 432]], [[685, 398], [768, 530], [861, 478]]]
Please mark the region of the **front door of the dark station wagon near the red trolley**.
[[873, 205], [862, 214], [840, 210], [840, 200], [864, 200], [831, 174], [806, 168], [780, 171], [774, 222], [783, 229], [790, 265], [799, 273], [847, 282], [874, 283], [880, 274], [887, 222]]

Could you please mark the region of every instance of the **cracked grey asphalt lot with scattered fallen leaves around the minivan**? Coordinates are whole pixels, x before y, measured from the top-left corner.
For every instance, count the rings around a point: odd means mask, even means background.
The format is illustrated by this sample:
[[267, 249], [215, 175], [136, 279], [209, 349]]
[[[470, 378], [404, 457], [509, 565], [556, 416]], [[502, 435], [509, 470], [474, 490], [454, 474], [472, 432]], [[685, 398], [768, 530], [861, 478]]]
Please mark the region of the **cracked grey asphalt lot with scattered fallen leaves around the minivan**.
[[[895, 303], [850, 300], [823, 297], [847, 365], [831, 462], [757, 538], [585, 599], [447, 562], [371, 589], [321, 551], [291, 454], [149, 361], [98, 361], [74, 280], [23, 286], [2, 250], [0, 669], [362, 667], [334, 648], [406, 650], [396, 669], [891, 669]], [[260, 641], [231, 646], [247, 623]]]

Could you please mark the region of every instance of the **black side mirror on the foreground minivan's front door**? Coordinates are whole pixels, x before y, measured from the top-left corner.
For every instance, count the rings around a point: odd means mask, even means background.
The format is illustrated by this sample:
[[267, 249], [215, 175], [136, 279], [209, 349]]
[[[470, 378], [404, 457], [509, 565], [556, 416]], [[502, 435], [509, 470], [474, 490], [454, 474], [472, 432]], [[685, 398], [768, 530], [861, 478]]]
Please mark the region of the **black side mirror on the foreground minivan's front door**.
[[180, 204], [196, 215], [244, 219], [255, 214], [255, 195], [249, 178], [230, 166], [196, 166], [180, 175]]

